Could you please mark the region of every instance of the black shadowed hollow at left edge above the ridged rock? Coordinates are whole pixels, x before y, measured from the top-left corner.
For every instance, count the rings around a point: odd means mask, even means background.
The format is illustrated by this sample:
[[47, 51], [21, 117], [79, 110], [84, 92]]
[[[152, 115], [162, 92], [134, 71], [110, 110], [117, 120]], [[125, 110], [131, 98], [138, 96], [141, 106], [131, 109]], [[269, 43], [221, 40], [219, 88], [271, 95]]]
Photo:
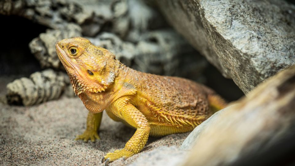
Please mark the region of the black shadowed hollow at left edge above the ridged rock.
[[0, 15], [1, 41], [0, 76], [28, 77], [40, 71], [37, 59], [31, 54], [29, 42], [47, 29], [19, 16]]

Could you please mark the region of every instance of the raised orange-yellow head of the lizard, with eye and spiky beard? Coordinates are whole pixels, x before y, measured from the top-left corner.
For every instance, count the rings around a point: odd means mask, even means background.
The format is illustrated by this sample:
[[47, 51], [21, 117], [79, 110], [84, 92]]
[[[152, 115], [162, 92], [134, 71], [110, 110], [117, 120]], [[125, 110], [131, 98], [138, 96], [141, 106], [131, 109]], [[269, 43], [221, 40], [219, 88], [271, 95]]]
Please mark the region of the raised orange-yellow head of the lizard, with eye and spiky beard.
[[115, 55], [107, 49], [81, 37], [58, 41], [55, 47], [76, 94], [102, 92], [114, 81]]

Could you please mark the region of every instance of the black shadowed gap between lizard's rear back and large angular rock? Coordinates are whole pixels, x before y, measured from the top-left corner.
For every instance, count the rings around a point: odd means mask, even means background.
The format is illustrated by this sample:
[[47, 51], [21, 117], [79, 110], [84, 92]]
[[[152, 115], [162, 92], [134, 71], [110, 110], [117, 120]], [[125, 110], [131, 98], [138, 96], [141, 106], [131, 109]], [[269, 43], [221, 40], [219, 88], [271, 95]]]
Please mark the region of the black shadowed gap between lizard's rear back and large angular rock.
[[226, 101], [235, 101], [244, 95], [233, 80], [227, 79], [213, 66], [208, 65], [203, 75], [206, 77], [206, 85], [214, 89]]

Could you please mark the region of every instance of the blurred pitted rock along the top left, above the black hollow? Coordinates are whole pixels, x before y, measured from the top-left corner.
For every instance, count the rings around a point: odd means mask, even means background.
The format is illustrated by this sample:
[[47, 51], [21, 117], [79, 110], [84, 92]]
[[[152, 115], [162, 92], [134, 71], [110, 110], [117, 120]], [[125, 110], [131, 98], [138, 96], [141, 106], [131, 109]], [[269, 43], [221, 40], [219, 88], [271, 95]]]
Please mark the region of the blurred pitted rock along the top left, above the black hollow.
[[[19, 15], [56, 30], [63, 29], [69, 23], [75, 23], [82, 27], [82, 33], [87, 36], [95, 36], [106, 23], [117, 25], [118, 20], [125, 17], [127, 9], [126, 0], [5, 0], [0, 2], [0, 14]], [[117, 27], [114, 28], [120, 30]], [[121, 31], [126, 30], [121, 29]]]

